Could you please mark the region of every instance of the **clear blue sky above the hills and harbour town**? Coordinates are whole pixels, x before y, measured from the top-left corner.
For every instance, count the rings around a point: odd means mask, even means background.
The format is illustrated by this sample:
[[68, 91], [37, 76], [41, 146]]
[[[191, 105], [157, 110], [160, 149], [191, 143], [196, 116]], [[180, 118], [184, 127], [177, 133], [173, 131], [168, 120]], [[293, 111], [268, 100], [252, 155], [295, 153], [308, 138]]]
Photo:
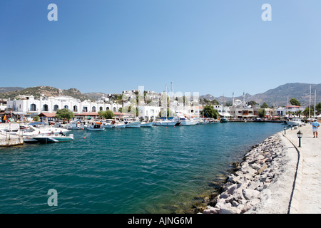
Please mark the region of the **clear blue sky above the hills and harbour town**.
[[1, 0], [0, 77], [83, 93], [173, 82], [214, 96], [321, 83], [321, 1]]

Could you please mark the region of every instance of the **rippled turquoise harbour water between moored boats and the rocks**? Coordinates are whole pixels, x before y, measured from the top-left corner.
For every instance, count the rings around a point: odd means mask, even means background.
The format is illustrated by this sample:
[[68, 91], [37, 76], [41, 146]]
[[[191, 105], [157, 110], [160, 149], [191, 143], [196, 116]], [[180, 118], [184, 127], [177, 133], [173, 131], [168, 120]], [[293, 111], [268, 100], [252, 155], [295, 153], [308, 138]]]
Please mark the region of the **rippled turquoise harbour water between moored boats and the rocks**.
[[[220, 123], [103, 132], [72, 142], [0, 147], [0, 213], [171, 213], [212, 191], [280, 123]], [[48, 190], [58, 192], [49, 207]]]

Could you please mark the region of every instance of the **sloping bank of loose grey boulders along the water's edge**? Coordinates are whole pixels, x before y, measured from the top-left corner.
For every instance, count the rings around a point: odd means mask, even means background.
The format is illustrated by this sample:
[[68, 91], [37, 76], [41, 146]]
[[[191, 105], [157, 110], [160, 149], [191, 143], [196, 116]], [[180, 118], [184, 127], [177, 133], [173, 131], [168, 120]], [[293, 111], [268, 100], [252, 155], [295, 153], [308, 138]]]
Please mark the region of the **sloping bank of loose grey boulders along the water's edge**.
[[220, 195], [208, 204], [203, 214], [251, 213], [257, 205], [263, 207], [271, 198], [270, 185], [286, 169], [287, 147], [281, 137], [277, 133], [253, 146], [243, 162], [235, 165], [235, 173], [227, 178]]

